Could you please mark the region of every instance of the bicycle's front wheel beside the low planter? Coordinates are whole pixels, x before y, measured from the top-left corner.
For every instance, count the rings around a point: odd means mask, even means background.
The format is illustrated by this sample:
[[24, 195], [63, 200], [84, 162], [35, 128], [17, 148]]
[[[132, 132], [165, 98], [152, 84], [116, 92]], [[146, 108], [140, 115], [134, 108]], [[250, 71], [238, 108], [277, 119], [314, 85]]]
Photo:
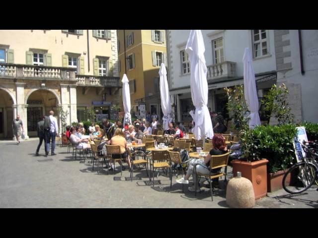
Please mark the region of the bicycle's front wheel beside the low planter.
[[312, 163], [300, 162], [293, 165], [284, 175], [283, 188], [291, 194], [306, 191], [315, 182], [317, 170]]

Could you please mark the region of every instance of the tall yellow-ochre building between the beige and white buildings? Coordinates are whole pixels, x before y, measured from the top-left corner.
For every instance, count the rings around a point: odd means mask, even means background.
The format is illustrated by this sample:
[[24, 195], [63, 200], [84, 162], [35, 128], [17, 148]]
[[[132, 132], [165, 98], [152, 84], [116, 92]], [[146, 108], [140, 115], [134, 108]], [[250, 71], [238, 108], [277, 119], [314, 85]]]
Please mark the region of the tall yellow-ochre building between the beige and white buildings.
[[118, 71], [126, 73], [132, 109], [137, 117], [160, 110], [159, 68], [166, 61], [165, 30], [117, 30]]

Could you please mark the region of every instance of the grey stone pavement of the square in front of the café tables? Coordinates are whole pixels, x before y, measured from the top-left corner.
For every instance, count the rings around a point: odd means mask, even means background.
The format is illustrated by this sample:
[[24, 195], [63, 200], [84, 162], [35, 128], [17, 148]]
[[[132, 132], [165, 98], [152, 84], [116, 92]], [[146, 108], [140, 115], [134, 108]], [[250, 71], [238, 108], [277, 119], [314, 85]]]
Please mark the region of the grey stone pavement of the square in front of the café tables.
[[[38, 139], [16, 145], [0, 142], [0, 207], [1, 208], [227, 208], [223, 179], [211, 201], [209, 188], [194, 196], [188, 185], [175, 183], [160, 172], [155, 186], [150, 185], [144, 169], [136, 170], [134, 180], [120, 167], [116, 174], [102, 169], [97, 173], [89, 161], [73, 160], [66, 147], [57, 147], [56, 156], [35, 156]], [[127, 168], [127, 165], [124, 164]], [[118, 164], [117, 164], [118, 166]], [[230, 168], [230, 167], [229, 167]], [[156, 173], [157, 175], [157, 173]], [[231, 179], [230, 171], [228, 179]], [[180, 177], [179, 177], [180, 178]], [[284, 190], [269, 193], [256, 201], [256, 208], [318, 208], [316, 188], [301, 195], [288, 195]]]

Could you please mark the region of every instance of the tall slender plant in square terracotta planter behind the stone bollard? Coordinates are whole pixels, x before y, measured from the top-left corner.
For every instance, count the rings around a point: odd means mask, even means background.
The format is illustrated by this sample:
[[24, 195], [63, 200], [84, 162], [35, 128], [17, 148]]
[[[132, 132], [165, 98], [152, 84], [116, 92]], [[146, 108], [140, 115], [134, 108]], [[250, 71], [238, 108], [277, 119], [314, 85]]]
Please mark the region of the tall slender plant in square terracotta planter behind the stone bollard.
[[249, 112], [244, 99], [242, 85], [234, 88], [225, 88], [228, 96], [228, 110], [235, 115], [235, 123], [238, 124], [241, 140], [241, 159], [231, 161], [233, 176], [241, 172], [242, 177], [249, 179], [253, 184], [255, 199], [267, 194], [267, 159], [260, 157], [260, 153], [253, 141], [253, 130], [249, 129]]

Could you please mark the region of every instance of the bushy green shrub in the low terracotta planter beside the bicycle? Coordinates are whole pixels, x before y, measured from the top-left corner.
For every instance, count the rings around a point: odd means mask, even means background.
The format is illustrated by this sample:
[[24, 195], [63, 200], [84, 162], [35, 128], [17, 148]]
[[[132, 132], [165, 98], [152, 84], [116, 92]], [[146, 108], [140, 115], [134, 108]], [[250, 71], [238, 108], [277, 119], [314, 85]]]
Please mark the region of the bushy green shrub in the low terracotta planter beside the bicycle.
[[295, 158], [293, 138], [297, 130], [293, 124], [294, 115], [288, 104], [288, 94], [288, 88], [284, 83], [279, 86], [274, 84], [262, 100], [265, 110], [271, 112], [270, 116], [275, 118], [278, 124], [278, 126], [258, 128], [261, 132], [259, 135], [263, 137], [257, 140], [260, 153], [269, 160], [267, 166], [269, 192], [282, 188], [283, 176]]

